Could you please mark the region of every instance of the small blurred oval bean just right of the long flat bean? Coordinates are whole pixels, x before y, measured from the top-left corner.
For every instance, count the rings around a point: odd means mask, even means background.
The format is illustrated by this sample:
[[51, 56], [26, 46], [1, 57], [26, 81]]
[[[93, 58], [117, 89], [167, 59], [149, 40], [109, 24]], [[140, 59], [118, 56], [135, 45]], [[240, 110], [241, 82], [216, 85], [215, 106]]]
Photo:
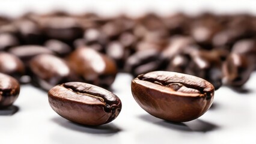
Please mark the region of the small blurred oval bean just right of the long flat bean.
[[72, 48], [59, 40], [47, 40], [44, 46], [55, 52], [58, 56], [66, 56], [72, 52]]

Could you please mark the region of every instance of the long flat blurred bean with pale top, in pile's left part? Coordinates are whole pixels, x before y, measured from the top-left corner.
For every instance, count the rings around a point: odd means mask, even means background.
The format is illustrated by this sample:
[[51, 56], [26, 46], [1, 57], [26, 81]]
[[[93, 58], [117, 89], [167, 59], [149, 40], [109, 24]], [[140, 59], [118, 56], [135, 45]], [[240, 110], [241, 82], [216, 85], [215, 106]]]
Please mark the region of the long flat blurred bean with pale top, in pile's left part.
[[49, 50], [46, 47], [37, 46], [37, 45], [11, 47], [11, 49], [9, 49], [8, 52], [19, 57], [24, 62], [25, 65], [28, 65], [28, 62], [34, 56], [37, 56], [43, 53], [53, 54], [52, 50]]

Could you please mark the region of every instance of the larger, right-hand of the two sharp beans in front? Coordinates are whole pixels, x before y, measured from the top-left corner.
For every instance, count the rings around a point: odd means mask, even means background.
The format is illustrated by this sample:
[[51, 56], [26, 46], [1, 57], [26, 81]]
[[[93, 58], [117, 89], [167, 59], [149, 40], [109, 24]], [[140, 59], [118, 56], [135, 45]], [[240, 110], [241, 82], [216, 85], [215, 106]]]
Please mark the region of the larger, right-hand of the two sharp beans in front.
[[157, 118], [191, 121], [213, 103], [214, 87], [199, 77], [169, 71], [153, 71], [132, 80], [132, 95], [139, 106]]

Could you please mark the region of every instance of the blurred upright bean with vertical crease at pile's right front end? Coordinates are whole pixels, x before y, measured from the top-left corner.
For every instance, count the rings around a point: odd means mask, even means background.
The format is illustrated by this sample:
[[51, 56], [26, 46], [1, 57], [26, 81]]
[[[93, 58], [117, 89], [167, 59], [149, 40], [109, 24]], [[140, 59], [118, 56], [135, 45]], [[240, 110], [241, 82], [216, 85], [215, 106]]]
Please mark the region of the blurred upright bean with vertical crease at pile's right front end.
[[249, 79], [252, 69], [253, 66], [246, 56], [231, 53], [222, 67], [222, 73], [224, 74], [222, 81], [225, 85], [242, 86]]

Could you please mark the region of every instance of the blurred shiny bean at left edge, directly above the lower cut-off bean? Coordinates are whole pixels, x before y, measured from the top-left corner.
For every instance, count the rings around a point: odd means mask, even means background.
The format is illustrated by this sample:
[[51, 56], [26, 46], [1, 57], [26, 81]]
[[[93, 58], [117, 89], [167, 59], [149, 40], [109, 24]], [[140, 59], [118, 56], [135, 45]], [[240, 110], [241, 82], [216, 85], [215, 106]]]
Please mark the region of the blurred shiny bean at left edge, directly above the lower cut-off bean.
[[17, 56], [0, 52], [0, 73], [13, 76], [20, 81], [25, 74], [25, 65]]

